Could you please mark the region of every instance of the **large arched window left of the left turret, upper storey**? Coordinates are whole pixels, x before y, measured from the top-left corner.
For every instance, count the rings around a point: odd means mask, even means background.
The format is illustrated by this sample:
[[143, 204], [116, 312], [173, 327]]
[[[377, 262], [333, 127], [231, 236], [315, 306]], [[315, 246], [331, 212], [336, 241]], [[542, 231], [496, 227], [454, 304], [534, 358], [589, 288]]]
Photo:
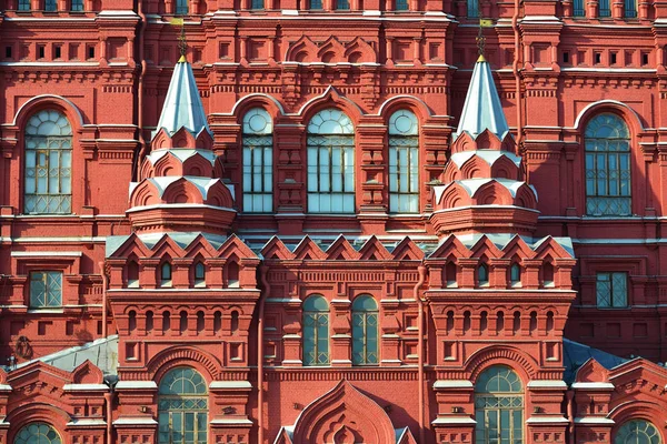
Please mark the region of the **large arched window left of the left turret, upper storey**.
[[40, 111], [26, 127], [24, 212], [72, 212], [72, 128], [54, 110]]

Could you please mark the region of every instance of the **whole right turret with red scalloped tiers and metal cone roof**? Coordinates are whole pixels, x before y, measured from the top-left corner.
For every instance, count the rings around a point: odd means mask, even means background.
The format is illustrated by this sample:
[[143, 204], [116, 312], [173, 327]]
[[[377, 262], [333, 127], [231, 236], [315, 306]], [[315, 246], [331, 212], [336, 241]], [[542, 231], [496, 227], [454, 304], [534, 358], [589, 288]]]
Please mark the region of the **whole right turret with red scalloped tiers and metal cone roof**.
[[438, 234], [530, 234], [537, 223], [537, 193], [522, 178], [521, 158], [489, 63], [479, 57], [454, 133], [445, 184], [434, 188], [431, 224]]

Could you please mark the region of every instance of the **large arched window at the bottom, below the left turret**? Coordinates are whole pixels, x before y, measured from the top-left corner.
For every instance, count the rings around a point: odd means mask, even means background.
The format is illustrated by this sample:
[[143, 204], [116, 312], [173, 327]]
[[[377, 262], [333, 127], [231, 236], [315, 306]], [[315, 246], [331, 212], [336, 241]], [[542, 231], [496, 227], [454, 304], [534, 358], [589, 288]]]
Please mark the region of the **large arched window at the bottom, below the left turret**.
[[208, 392], [193, 369], [170, 370], [158, 391], [158, 443], [207, 443]]

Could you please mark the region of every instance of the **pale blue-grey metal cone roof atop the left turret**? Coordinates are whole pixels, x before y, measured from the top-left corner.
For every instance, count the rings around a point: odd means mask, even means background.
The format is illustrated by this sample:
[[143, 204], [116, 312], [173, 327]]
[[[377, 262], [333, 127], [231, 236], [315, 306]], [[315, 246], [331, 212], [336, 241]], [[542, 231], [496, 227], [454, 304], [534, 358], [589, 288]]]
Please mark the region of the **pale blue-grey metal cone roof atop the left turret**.
[[190, 63], [179, 61], [173, 68], [167, 99], [165, 99], [162, 113], [153, 137], [162, 128], [172, 135], [183, 127], [195, 135], [202, 130], [211, 132], [206, 120], [203, 104], [199, 98], [192, 68]]

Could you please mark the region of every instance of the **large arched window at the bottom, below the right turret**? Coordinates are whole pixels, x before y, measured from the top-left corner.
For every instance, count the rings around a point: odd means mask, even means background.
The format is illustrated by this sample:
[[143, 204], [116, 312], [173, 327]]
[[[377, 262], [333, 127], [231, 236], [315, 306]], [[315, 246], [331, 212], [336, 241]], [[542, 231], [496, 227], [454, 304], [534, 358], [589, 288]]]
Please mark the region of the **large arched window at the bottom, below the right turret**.
[[524, 389], [510, 369], [485, 370], [475, 384], [475, 444], [524, 443]]

